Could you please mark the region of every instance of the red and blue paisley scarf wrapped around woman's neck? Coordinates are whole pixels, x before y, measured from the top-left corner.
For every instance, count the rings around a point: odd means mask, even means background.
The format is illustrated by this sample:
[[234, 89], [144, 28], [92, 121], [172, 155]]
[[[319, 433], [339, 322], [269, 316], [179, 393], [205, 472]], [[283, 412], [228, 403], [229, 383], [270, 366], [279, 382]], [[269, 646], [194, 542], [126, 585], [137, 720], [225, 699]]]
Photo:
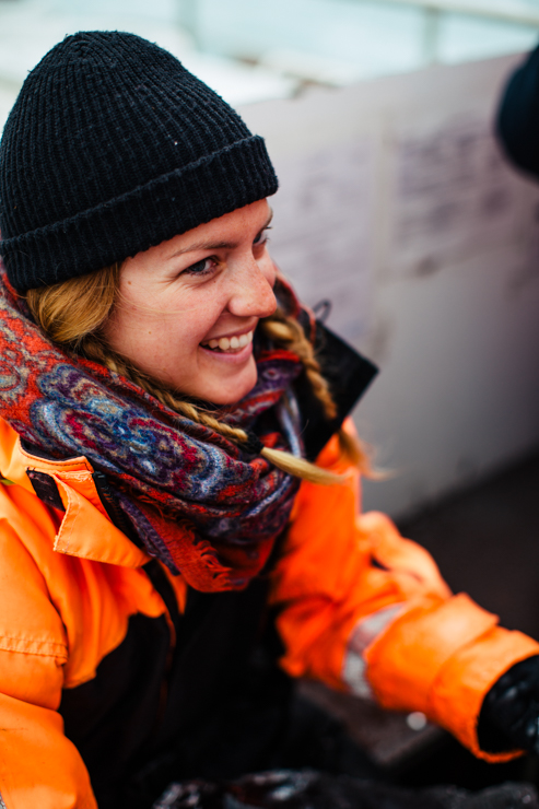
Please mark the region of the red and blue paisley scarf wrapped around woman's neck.
[[[281, 295], [297, 302], [281, 283]], [[258, 382], [219, 418], [298, 452], [283, 395], [302, 370], [257, 352]], [[0, 415], [32, 448], [104, 472], [148, 553], [204, 591], [246, 586], [286, 526], [297, 481], [125, 377], [73, 359], [37, 328], [0, 266]]]

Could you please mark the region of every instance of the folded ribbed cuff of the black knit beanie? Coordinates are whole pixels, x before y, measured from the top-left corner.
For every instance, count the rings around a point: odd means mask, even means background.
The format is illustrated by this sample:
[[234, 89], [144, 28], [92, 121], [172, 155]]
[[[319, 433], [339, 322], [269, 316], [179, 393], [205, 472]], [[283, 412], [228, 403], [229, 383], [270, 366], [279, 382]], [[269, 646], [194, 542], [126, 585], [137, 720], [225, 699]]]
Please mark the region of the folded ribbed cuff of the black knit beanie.
[[74, 216], [3, 239], [0, 255], [14, 288], [26, 292], [134, 256], [277, 187], [265, 142], [251, 136]]

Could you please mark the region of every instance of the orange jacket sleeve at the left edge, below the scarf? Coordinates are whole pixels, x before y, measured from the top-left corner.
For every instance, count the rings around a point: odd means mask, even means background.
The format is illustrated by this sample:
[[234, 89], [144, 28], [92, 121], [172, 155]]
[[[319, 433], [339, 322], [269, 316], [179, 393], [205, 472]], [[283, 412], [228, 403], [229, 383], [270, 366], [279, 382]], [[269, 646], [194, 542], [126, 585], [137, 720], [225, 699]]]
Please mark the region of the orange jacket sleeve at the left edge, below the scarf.
[[0, 796], [7, 809], [97, 809], [57, 712], [65, 629], [33, 558], [5, 519], [0, 559]]

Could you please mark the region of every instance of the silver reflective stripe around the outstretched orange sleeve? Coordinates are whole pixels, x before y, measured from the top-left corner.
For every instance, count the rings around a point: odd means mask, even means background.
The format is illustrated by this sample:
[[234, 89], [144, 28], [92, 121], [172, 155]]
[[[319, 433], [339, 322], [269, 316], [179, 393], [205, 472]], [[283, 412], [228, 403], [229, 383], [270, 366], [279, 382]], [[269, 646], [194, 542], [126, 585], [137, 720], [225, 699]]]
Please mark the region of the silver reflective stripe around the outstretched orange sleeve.
[[405, 605], [396, 603], [384, 607], [372, 615], [362, 618], [350, 636], [348, 649], [342, 667], [342, 679], [356, 696], [373, 699], [373, 692], [366, 678], [366, 663], [363, 657], [365, 649], [383, 632], [397, 615], [402, 612]]

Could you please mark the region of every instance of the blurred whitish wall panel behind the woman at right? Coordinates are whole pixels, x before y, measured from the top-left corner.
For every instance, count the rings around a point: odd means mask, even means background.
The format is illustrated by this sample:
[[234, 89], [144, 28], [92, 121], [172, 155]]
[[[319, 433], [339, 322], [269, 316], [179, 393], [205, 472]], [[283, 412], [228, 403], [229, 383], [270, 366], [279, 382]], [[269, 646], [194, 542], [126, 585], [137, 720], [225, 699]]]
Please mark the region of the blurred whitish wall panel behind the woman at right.
[[328, 325], [382, 370], [355, 420], [396, 476], [367, 508], [401, 515], [539, 446], [539, 185], [490, 134], [518, 61], [242, 109], [280, 175], [282, 269], [310, 304], [337, 291]]

